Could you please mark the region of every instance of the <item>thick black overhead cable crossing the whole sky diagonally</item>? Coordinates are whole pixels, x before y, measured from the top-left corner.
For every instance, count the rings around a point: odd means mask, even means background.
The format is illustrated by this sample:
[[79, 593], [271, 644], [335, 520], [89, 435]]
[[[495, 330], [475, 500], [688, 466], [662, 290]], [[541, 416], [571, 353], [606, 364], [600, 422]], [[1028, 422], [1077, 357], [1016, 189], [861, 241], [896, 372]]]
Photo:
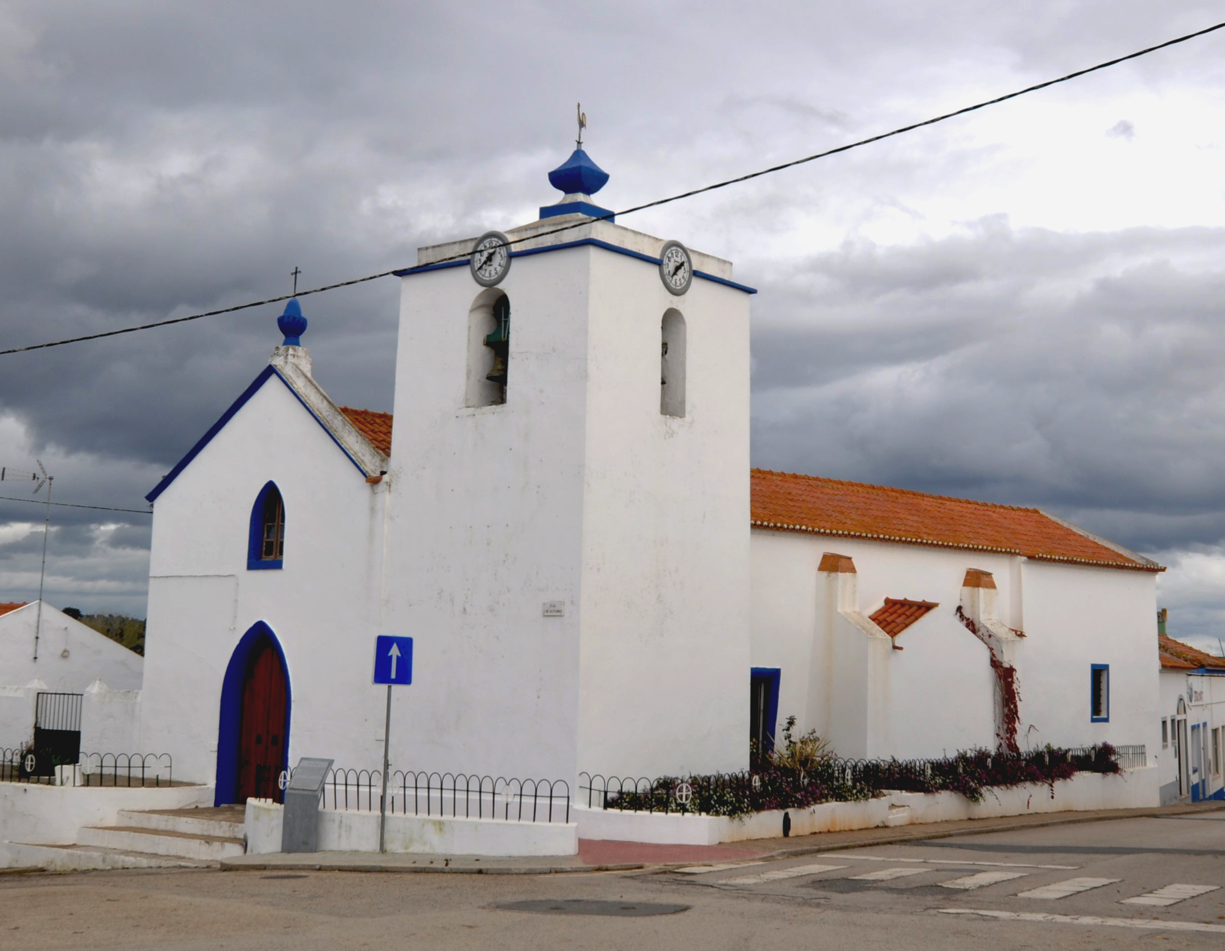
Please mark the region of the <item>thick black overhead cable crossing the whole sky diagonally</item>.
[[[1003, 95], [997, 95], [993, 99], [984, 99], [981, 103], [974, 103], [973, 105], [967, 105], [957, 109], [952, 113], [944, 113], [943, 115], [937, 115], [931, 119], [925, 119], [921, 122], [911, 122], [910, 125], [900, 126], [889, 132], [881, 132], [880, 135], [869, 136], [867, 138], [861, 138], [858, 142], [849, 142], [845, 146], [838, 146], [837, 148], [829, 148], [824, 152], [815, 152], [811, 155], [805, 155], [804, 158], [793, 159], [791, 162], [784, 162], [780, 165], [771, 165], [767, 169], [760, 169], [758, 171], [751, 171], [747, 175], [737, 175], [734, 179], [724, 179], [723, 181], [717, 181], [713, 185], [704, 185], [701, 188], [691, 188], [690, 191], [680, 192], [679, 195], [669, 196], [668, 198], [658, 198], [653, 202], [646, 202], [643, 204], [636, 204], [631, 208], [625, 208], [620, 212], [610, 212], [608, 214], [599, 215], [594, 219], [587, 219], [583, 222], [576, 222], [575, 224], [561, 225], [560, 228], [554, 228], [548, 231], [538, 231], [527, 237], [517, 237], [513, 241], [508, 241], [506, 246], [513, 246], [522, 244], [523, 241], [538, 241], [541, 237], [548, 237], [549, 235], [561, 234], [562, 231], [570, 231], [575, 228], [584, 228], [592, 223], [592, 220], [603, 222], [609, 218], [617, 215], [633, 214], [635, 212], [642, 212], [647, 208], [658, 208], [662, 204], [670, 204], [671, 202], [679, 202], [682, 198], [692, 198], [696, 195], [704, 195], [706, 192], [717, 191], [718, 188], [726, 188], [729, 185], [739, 185], [740, 182], [751, 181], [752, 179], [760, 179], [763, 175], [773, 175], [778, 171], [784, 171], [785, 169], [793, 169], [796, 165], [804, 165], [809, 162], [816, 162], [817, 159], [828, 158], [829, 155], [837, 155], [842, 152], [850, 152], [854, 148], [861, 148], [862, 146], [870, 146], [873, 142], [880, 142], [886, 138], [892, 138], [893, 136], [900, 136], [904, 132], [913, 132], [916, 129], [922, 129], [925, 126], [936, 125], [937, 122], [943, 122], [948, 119], [954, 119], [959, 115], [965, 115], [967, 113], [973, 113], [979, 109], [986, 109], [989, 105], [998, 105], [1000, 103], [1008, 102], [1009, 99], [1016, 99], [1018, 95], [1025, 95], [1027, 93], [1038, 92], [1039, 89], [1046, 89], [1051, 86], [1057, 86], [1062, 82], [1068, 82], [1071, 80], [1079, 78], [1080, 76], [1088, 76], [1090, 72], [1098, 72], [1099, 70], [1105, 70], [1111, 66], [1117, 66], [1120, 62], [1127, 62], [1128, 60], [1139, 59], [1140, 56], [1147, 56], [1150, 53], [1156, 53], [1158, 50], [1166, 49], [1167, 47], [1175, 47], [1180, 43], [1186, 43], [1187, 40], [1196, 39], [1198, 37], [1207, 35], [1208, 33], [1215, 33], [1218, 29], [1225, 28], [1225, 22], [1215, 23], [1214, 26], [1205, 27], [1204, 29], [1197, 29], [1194, 33], [1187, 33], [1174, 39], [1167, 39], [1165, 43], [1158, 43], [1154, 47], [1145, 47], [1144, 49], [1136, 50], [1136, 53], [1128, 53], [1126, 56], [1116, 56], [1112, 60], [1106, 60], [1105, 62], [1099, 62], [1095, 66], [1089, 66], [1083, 70], [1077, 70], [1076, 72], [1069, 72], [1065, 76], [1060, 76], [1055, 80], [1047, 80], [1046, 82], [1039, 82], [1033, 86], [1027, 86], [1024, 89], [1017, 89], [1016, 92], [1005, 93]], [[432, 264], [447, 264], [454, 261], [464, 261], [470, 256], [470, 252], [464, 252], [461, 255], [452, 255], [451, 257], [440, 258], [439, 261], [431, 262]], [[409, 266], [410, 267], [410, 266]], [[325, 284], [321, 288], [312, 288], [310, 290], [298, 291], [296, 294], [283, 294], [279, 297], [266, 297], [260, 301], [251, 301], [250, 304], [236, 304], [233, 307], [219, 307], [213, 311], [205, 311], [203, 313], [192, 313], [186, 317], [172, 317], [165, 321], [156, 321], [153, 323], [140, 324], [138, 327], [124, 327], [119, 330], [103, 330], [102, 333], [83, 334], [81, 337], [70, 337], [64, 340], [51, 340], [43, 344], [31, 344], [28, 346], [15, 346], [10, 350], [0, 350], [0, 356], [7, 356], [10, 354], [23, 354], [28, 350], [45, 350], [50, 346], [64, 346], [65, 344], [76, 344], [83, 340], [98, 340], [103, 337], [116, 337], [125, 333], [136, 333], [137, 330], [151, 330], [154, 327], [168, 327], [173, 323], [186, 323], [187, 321], [198, 321], [202, 317], [216, 317], [222, 313], [234, 313], [235, 311], [244, 311], [251, 307], [262, 307], [266, 304], [279, 304], [281, 301], [287, 301], [290, 297], [305, 297], [309, 294], [322, 294], [326, 290], [336, 290], [337, 288], [348, 288], [353, 284], [364, 284], [370, 280], [379, 280], [380, 278], [387, 278], [399, 270], [408, 270], [409, 267], [392, 268], [391, 270], [381, 270], [377, 274], [368, 274], [364, 278], [353, 278], [350, 280], [342, 280], [336, 284]]]

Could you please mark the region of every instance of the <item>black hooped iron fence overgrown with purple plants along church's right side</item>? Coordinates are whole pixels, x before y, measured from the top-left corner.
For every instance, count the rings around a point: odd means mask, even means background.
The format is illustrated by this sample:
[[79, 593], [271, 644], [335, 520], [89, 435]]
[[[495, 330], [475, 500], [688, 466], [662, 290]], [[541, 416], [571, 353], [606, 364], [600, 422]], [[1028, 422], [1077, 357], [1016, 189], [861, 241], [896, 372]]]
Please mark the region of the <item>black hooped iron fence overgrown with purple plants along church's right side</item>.
[[658, 778], [579, 774], [579, 802], [592, 809], [747, 815], [826, 802], [875, 798], [887, 791], [958, 792], [980, 802], [992, 787], [1044, 783], [1078, 772], [1118, 772], [1148, 763], [1144, 745], [1047, 748], [1022, 754], [987, 750], [946, 759], [880, 760], [824, 756], [805, 767], [760, 763], [744, 772]]

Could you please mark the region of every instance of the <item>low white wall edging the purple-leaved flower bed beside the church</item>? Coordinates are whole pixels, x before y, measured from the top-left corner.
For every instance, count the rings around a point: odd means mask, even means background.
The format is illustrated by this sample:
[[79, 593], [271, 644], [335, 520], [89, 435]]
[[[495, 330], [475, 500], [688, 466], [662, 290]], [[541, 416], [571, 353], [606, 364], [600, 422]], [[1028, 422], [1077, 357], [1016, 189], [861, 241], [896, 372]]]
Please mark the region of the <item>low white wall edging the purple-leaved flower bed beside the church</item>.
[[1155, 766], [1112, 776], [1080, 772], [1055, 783], [987, 789], [982, 802], [941, 793], [887, 793], [859, 803], [821, 803], [801, 809], [756, 813], [742, 819], [718, 815], [660, 815], [616, 809], [575, 808], [579, 838], [714, 846], [748, 838], [780, 838], [784, 811], [791, 816], [791, 835], [875, 829], [886, 825], [947, 822], [957, 819], [998, 819], [1035, 813], [1140, 809], [1159, 805]]

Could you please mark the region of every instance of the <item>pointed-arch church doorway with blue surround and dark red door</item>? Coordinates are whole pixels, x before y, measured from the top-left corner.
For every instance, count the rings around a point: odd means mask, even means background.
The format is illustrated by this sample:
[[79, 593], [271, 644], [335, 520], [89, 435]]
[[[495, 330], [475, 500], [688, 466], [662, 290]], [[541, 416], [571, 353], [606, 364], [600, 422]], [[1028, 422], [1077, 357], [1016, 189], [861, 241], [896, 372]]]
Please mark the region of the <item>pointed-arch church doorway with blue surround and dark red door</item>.
[[289, 766], [289, 666], [272, 628], [256, 622], [239, 640], [222, 682], [217, 805], [247, 797], [281, 802]]

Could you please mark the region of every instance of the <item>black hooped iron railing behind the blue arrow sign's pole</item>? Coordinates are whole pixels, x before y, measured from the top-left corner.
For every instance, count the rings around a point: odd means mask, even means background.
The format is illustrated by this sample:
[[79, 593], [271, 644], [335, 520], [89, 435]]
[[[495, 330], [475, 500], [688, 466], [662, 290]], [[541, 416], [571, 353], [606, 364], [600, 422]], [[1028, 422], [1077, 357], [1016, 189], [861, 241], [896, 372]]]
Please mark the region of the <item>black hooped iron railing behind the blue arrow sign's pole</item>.
[[[381, 797], [381, 770], [332, 769], [323, 783], [321, 805], [325, 809], [379, 811]], [[393, 770], [387, 777], [387, 813], [511, 822], [568, 822], [570, 783], [564, 780]]]

